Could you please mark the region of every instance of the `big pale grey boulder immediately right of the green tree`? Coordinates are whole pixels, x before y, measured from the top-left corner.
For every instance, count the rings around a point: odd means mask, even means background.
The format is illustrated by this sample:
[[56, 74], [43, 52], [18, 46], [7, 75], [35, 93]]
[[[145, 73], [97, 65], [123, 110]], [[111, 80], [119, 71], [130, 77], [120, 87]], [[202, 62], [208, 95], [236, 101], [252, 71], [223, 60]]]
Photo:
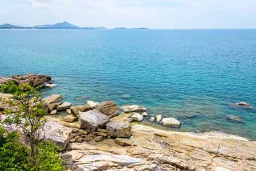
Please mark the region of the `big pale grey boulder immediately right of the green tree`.
[[40, 131], [39, 139], [40, 140], [51, 140], [60, 148], [65, 148], [67, 143], [71, 140], [72, 129], [64, 127], [62, 124], [59, 124], [55, 121], [47, 121], [44, 124], [43, 131]]

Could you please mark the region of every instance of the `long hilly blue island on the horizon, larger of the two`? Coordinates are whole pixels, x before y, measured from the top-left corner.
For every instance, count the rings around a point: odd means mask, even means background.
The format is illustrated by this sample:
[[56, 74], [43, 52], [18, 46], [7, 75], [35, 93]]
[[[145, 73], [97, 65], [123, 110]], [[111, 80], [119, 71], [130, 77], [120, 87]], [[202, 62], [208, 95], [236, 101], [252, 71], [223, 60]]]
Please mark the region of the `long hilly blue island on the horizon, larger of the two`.
[[87, 29], [87, 30], [92, 30], [92, 29], [107, 29], [105, 27], [78, 27], [75, 25], [71, 25], [68, 22], [63, 22], [63, 23], [56, 23], [55, 25], [37, 25], [34, 27], [22, 27], [22, 26], [13, 26], [10, 24], [3, 24], [0, 25], [0, 28], [2, 29], [15, 29], [15, 28], [26, 28], [26, 29], [32, 29], [32, 28], [37, 28], [37, 29]]

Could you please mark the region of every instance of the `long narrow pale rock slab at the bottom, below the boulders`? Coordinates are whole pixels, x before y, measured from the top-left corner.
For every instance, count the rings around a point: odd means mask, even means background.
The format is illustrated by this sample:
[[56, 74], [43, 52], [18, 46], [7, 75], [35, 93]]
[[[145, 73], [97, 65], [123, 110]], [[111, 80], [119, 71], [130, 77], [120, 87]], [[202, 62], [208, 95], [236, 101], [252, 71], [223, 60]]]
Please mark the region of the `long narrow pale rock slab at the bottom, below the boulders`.
[[80, 158], [77, 164], [90, 164], [96, 161], [110, 161], [120, 166], [129, 166], [131, 164], [143, 164], [143, 160], [135, 157], [124, 156], [119, 154], [113, 154], [112, 156], [97, 154], [97, 155], [86, 155]]

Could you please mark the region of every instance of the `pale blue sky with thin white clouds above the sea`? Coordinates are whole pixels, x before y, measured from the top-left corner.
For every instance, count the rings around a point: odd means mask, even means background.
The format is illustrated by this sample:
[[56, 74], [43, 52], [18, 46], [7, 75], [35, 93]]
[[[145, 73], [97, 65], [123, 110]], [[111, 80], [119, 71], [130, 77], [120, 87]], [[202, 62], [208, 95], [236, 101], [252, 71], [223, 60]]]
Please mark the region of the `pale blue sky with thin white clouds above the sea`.
[[256, 28], [255, 0], [0, 0], [0, 25]]

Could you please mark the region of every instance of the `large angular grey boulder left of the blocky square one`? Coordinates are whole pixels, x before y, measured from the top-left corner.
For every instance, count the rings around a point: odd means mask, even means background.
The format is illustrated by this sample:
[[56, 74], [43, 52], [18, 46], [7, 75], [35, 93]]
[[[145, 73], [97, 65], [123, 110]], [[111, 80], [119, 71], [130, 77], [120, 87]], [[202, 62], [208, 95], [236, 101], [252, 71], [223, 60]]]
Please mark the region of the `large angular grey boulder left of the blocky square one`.
[[107, 124], [109, 121], [109, 117], [104, 113], [100, 113], [94, 110], [83, 113], [81, 112], [78, 121], [80, 128], [96, 131], [97, 128], [105, 127], [105, 124]]

